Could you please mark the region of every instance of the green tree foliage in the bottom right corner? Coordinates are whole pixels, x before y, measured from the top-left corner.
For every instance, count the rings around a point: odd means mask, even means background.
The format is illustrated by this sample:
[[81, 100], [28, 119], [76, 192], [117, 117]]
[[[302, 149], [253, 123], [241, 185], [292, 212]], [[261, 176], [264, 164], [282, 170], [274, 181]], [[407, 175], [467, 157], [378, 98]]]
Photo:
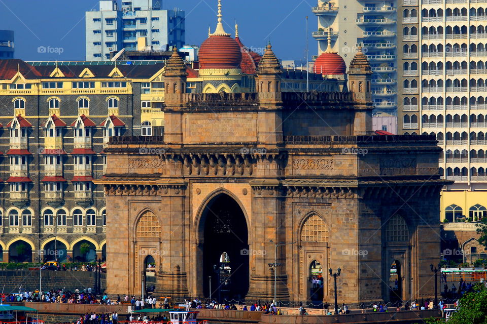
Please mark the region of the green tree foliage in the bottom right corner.
[[[445, 322], [440, 321], [437, 323]], [[431, 322], [433, 323], [433, 322]], [[487, 289], [477, 284], [474, 291], [460, 299], [460, 309], [449, 319], [448, 324], [486, 324], [487, 323]]]

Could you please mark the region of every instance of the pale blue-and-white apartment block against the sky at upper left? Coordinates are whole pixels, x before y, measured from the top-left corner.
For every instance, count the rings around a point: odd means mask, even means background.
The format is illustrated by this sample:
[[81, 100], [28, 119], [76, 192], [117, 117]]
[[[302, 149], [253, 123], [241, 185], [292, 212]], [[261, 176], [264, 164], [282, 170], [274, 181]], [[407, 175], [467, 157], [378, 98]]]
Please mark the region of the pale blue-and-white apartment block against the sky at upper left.
[[157, 0], [102, 0], [98, 11], [86, 12], [86, 60], [110, 59], [110, 52], [136, 50], [137, 39], [146, 37], [147, 46], [167, 50], [185, 43], [185, 13], [161, 10]]

